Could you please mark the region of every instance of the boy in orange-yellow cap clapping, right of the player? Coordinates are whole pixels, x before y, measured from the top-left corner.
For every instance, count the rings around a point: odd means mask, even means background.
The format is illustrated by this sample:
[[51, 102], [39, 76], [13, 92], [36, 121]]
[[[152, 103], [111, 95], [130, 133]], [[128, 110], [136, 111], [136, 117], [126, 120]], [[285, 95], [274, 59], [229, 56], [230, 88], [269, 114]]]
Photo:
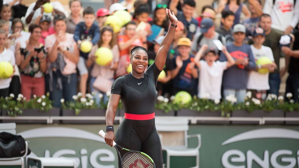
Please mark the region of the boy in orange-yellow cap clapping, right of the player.
[[173, 95], [179, 91], [186, 91], [195, 95], [195, 79], [198, 77], [197, 69], [194, 67], [194, 55], [190, 55], [191, 41], [182, 37], [178, 41], [178, 52], [172, 62]]

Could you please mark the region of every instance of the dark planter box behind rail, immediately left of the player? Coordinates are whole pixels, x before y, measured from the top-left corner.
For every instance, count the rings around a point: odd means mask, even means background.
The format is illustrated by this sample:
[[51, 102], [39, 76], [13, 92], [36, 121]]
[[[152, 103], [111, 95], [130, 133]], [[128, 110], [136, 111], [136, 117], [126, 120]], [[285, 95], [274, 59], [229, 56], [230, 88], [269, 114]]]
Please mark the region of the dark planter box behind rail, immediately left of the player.
[[[80, 114], [76, 115], [75, 110], [63, 109], [62, 116], [69, 116], [69, 117], [105, 117], [106, 110], [104, 109], [82, 109], [80, 110]], [[116, 123], [118, 121], [115, 121]], [[105, 124], [105, 119], [103, 120], [61, 120], [61, 123], [64, 124]]]

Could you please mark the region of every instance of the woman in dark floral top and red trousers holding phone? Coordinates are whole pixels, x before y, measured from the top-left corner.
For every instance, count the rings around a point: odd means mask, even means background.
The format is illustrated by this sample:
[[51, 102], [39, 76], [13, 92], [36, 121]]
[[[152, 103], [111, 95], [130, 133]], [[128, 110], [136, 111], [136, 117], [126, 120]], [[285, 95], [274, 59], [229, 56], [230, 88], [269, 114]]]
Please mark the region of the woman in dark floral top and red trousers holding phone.
[[39, 42], [42, 28], [37, 24], [29, 26], [31, 33], [26, 50], [20, 52], [20, 45], [16, 46], [16, 57], [21, 57], [21, 94], [29, 100], [31, 94], [41, 97], [45, 94], [45, 79], [47, 63], [43, 45]]

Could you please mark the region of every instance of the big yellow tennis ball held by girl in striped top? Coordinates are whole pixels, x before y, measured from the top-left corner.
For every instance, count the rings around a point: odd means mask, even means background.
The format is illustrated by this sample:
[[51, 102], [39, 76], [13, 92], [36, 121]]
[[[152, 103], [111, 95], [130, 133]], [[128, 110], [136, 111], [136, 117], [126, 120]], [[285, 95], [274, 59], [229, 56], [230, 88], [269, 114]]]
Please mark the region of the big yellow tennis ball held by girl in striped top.
[[96, 58], [96, 63], [101, 66], [105, 66], [113, 58], [112, 51], [106, 47], [98, 48], [94, 55], [98, 57]]

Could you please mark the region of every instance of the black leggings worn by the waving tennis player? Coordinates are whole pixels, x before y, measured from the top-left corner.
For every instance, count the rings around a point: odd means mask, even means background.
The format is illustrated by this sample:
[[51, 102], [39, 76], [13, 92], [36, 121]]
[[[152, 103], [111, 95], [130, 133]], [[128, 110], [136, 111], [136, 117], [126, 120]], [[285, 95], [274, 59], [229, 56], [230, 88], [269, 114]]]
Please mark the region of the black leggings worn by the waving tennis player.
[[[121, 147], [148, 154], [153, 159], [156, 168], [163, 167], [162, 148], [155, 127], [155, 119], [124, 119], [115, 133], [115, 139], [115, 142]], [[118, 166], [121, 167], [119, 156]]]

